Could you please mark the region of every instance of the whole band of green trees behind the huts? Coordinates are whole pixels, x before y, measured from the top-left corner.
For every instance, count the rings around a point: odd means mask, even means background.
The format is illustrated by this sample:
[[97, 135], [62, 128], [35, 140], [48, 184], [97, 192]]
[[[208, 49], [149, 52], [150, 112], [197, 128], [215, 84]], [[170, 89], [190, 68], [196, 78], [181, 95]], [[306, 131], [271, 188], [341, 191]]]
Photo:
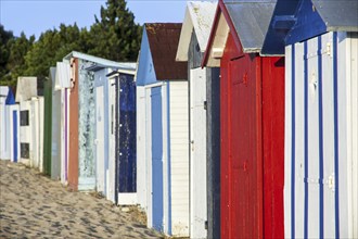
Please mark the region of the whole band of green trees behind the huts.
[[23, 33], [16, 38], [0, 25], [0, 85], [14, 85], [21, 75], [44, 79], [49, 68], [72, 51], [113, 61], [137, 61], [141, 33], [125, 0], [107, 0], [100, 20], [94, 16], [89, 30], [79, 29], [76, 23], [61, 24], [59, 29], [42, 33], [37, 41]]

